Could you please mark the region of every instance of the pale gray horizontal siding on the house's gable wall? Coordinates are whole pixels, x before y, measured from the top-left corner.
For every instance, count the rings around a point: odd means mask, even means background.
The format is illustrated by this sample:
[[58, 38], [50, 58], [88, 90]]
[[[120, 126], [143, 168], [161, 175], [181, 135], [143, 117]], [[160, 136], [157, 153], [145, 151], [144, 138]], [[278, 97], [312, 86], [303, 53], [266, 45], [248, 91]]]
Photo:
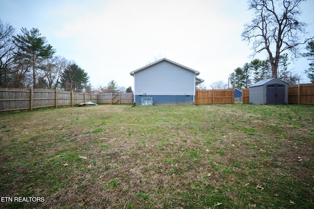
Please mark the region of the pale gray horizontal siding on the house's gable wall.
[[137, 95], [194, 95], [195, 72], [160, 62], [134, 73]]

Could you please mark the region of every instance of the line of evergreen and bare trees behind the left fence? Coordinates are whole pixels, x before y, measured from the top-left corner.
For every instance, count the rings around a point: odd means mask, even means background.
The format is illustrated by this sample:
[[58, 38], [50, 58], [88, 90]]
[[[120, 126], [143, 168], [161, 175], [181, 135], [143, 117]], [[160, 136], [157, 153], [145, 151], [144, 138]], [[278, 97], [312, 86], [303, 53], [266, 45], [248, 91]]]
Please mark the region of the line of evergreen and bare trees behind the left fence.
[[0, 20], [0, 88], [55, 89], [74, 92], [132, 92], [110, 81], [93, 89], [89, 76], [75, 61], [56, 56], [38, 28], [15, 28]]

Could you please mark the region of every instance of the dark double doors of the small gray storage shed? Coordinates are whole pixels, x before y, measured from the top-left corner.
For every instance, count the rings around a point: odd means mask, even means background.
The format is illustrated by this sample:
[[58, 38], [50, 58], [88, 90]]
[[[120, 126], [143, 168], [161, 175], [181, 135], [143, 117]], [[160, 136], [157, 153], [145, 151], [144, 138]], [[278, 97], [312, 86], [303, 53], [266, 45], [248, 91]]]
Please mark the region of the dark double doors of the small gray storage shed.
[[285, 84], [266, 86], [266, 104], [285, 104]]

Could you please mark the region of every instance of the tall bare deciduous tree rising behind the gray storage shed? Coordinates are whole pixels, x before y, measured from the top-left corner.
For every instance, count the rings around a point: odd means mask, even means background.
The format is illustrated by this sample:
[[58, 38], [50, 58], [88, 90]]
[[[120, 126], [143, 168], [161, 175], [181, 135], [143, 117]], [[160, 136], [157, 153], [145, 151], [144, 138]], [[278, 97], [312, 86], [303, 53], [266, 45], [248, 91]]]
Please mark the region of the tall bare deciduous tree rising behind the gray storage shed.
[[277, 77], [279, 57], [289, 51], [293, 58], [299, 55], [299, 46], [313, 39], [306, 38], [307, 23], [298, 20], [300, 3], [304, 0], [249, 0], [254, 11], [251, 23], [244, 25], [244, 41], [253, 42], [254, 55], [267, 51], [272, 77]]

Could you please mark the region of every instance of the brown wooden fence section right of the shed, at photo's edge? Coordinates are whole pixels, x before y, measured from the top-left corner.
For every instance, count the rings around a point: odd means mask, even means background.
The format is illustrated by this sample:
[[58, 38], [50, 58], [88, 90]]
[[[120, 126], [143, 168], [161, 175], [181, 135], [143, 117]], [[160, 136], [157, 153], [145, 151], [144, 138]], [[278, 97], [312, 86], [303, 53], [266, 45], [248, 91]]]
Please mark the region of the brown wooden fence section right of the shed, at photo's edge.
[[289, 104], [314, 104], [314, 83], [288, 87]]

